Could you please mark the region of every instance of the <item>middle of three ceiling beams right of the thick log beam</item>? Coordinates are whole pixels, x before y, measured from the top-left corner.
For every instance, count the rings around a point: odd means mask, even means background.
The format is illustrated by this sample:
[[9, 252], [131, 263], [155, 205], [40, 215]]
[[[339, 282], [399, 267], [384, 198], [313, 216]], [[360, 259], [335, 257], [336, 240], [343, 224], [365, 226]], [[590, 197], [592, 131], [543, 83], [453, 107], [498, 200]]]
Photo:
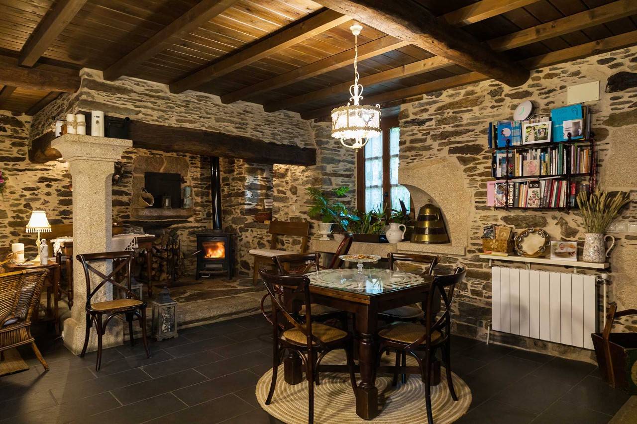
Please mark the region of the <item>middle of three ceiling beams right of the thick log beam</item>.
[[637, 13], [637, 1], [618, 0], [590, 10], [575, 13], [545, 24], [513, 32], [489, 41], [493, 50], [511, 50], [545, 39], [559, 37], [570, 32], [580, 31], [595, 25], [605, 24]]

